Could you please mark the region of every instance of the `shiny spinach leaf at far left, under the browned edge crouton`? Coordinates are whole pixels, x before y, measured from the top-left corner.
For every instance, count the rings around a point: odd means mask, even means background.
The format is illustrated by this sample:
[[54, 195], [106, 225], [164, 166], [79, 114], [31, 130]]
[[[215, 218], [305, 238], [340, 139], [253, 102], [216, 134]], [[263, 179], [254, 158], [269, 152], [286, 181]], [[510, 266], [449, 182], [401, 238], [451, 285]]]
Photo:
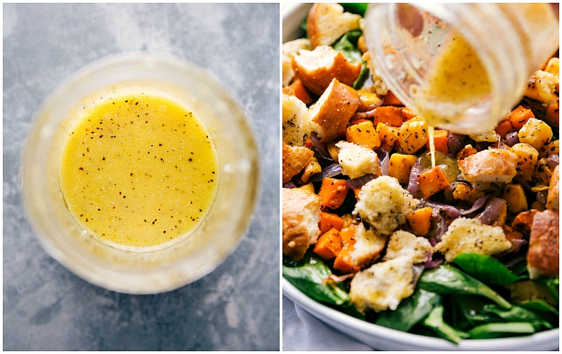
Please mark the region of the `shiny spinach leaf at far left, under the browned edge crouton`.
[[332, 271], [318, 257], [306, 254], [301, 266], [283, 264], [283, 277], [304, 294], [316, 301], [342, 305], [349, 301], [349, 294], [341, 285], [328, 280]]

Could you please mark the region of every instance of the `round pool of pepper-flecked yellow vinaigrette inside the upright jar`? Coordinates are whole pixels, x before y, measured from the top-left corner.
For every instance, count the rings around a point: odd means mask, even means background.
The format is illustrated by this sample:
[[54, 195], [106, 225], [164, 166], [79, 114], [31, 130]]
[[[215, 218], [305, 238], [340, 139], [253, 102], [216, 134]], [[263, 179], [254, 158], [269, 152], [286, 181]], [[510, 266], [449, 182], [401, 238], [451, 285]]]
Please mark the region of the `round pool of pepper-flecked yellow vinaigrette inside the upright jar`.
[[108, 243], [150, 247], [204, 219], [216, 196], [218, 158], [187, 107], [139, 91], [82, 109], [59, 175], [67, 208], [86, 230]]

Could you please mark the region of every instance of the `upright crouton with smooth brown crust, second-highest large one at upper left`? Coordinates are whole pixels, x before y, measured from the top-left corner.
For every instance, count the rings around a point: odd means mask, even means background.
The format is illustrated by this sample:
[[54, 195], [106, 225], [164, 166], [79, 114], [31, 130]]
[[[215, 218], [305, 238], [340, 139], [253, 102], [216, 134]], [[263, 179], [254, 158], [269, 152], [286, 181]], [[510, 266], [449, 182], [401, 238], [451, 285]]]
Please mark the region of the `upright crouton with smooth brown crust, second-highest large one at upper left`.
[[358, 106], [357, 91], [333, 79], [308, 111], [310, 130], [316, 132], [320, 142], [329, 142], [345, 130]]

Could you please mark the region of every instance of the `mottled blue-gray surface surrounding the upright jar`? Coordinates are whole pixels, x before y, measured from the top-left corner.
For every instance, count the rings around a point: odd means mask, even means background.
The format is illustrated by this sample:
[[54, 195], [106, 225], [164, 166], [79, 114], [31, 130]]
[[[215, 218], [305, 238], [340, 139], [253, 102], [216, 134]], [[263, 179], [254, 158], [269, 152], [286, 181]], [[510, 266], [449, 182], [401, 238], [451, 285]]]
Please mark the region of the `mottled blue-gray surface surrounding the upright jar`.
[[[48, 257], [20, 201], [32, 116], [75, 70], [148, 50], [209, 69], [247, 112], [261, 153], [258, 212], [224, 264], [179, 290], [133, 296]], [[4, 5], [4, 350], [278, 350], [279, 5]]]

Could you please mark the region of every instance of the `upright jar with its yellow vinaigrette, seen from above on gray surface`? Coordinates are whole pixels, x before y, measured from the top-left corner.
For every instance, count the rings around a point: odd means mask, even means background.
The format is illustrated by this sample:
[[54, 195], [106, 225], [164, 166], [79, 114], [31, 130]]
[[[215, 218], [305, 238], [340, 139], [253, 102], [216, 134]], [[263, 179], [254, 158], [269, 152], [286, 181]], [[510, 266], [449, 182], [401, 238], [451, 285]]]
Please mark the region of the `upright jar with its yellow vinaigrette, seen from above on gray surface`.
[[174, 290], [233, 252], [258, 194], [258, 152], [228, 91], [176, 57], [107, 57], [37, 112], [25, 207], [46, 252], [94, 285]]

